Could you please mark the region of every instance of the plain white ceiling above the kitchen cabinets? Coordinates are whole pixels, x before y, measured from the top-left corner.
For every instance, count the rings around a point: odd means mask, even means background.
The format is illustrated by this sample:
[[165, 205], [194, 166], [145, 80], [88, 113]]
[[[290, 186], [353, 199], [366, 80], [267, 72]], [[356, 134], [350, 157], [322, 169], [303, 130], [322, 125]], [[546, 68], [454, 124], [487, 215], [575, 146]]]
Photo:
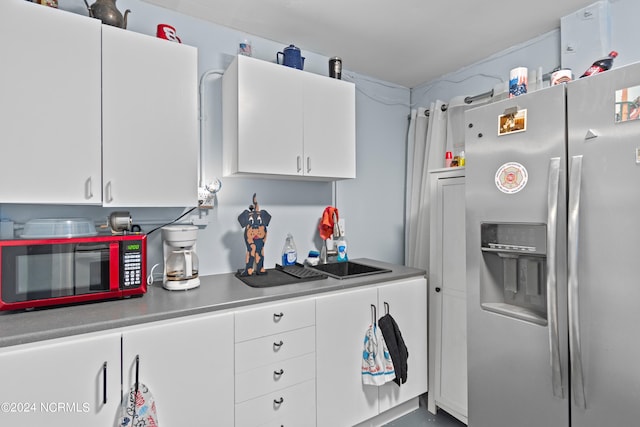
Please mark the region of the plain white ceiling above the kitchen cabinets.
[[[560, 27], [595, 0], [145, 0], [408, 88]], [[524, 4], [524, 7], [522, 6]]]

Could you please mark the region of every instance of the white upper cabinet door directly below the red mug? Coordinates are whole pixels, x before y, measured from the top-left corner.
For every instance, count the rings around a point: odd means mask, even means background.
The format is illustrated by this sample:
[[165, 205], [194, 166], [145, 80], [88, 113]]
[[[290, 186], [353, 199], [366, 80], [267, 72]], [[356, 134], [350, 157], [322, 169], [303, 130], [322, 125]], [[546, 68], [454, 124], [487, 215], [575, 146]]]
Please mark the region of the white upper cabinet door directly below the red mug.
[[103, 25], [104, 206], [196, 206], [197, 55]]

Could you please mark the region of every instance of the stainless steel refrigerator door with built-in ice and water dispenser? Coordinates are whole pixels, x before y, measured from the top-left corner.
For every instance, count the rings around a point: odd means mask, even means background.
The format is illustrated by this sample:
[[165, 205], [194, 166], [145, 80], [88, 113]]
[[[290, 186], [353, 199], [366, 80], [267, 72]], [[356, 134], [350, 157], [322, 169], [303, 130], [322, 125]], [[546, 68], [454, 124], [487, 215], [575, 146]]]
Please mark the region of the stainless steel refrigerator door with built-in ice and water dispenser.
[[[569, 425], [563, 308], [567, 298], [565, 105], [564, 87], [555, 86], [466, 113], [471, 427]], [[513, 127], [505, 120], [505, 114], [523, 110], [525, 123]], [[555, 226], [547, 230], [549, 192], [554, 188], [550, 181], [554, 180], [557, 203], [551, 197], [556, 208], [551, 222]], [[481, 227], [487, 223], [504, 227], [500, 241], [482, 242]], [[525, 231], [519, 231], [521, 226]], [[544, 247], [545, 239], [554, 236], [556, 244]], [[526, 244], [518, 245], [520, 238]], [[549, 267], [551, 262], [555, 268]], [[549, 279], [555, 280], [551, 285], [547, 284], [549, 272]], [[557, 294], [549, 294], [549, 289]]]

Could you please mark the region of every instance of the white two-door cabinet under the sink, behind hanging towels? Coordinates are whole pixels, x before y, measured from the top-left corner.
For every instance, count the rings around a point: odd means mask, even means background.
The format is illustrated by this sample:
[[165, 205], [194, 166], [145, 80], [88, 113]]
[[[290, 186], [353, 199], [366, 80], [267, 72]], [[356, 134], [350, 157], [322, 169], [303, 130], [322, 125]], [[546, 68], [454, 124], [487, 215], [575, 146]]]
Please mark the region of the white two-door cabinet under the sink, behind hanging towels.
[[[362, 384], [364, 336], [375, 315], [396, 320], [409, 351], [407, 382]], [[316, 299], [318, 427], [353, 426], [427, 391], [427, 284], [424, 278]]]

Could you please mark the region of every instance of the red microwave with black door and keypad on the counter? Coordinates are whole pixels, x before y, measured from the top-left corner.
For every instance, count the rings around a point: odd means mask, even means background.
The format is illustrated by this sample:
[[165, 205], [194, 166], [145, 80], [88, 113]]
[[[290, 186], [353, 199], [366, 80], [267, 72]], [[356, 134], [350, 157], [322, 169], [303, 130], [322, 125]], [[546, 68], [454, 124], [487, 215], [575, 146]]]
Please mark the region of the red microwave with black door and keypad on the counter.
[[0, 310], [144, 294], [146, 237], [0, 240]]

